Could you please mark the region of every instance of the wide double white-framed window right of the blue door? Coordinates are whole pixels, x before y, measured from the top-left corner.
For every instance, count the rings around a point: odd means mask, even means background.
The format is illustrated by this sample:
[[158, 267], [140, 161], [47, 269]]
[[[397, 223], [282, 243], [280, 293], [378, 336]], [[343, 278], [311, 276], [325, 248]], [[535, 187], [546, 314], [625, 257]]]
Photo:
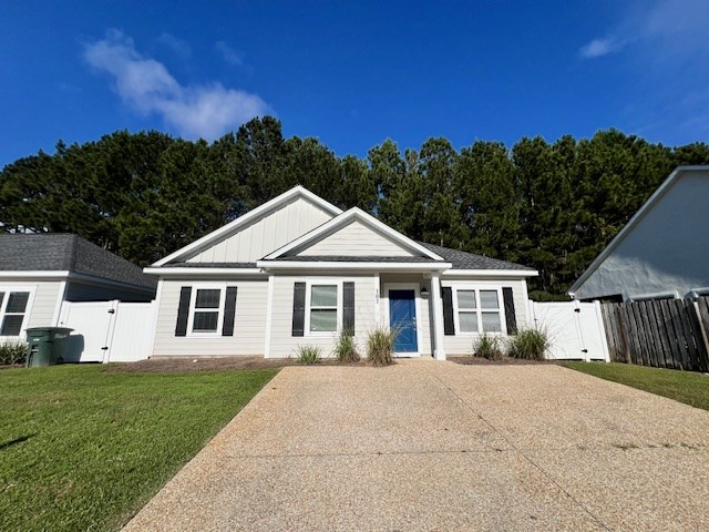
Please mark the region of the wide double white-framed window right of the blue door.
[[456, 287], [453, 298], [459, 334], [506, 334], [502, 288]]

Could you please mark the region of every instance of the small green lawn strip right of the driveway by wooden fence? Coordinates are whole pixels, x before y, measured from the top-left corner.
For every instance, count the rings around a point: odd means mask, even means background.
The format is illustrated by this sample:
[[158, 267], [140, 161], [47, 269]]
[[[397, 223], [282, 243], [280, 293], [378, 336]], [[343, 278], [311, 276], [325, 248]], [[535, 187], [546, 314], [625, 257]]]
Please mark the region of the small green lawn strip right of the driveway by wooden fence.
[[709, 410], [709, 376], [630, 364], [563, 362], [567, 368]]

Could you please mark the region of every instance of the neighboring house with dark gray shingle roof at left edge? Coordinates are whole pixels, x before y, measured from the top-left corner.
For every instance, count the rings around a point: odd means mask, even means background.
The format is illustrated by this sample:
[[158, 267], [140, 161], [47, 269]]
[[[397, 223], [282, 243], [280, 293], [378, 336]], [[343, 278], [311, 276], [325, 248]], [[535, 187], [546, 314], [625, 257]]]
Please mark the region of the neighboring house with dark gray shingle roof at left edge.
[[59, 325], [64, 301], [150, 301], [156, 285], [140, 266], [76, 235], [0, 234], [0, 340]]

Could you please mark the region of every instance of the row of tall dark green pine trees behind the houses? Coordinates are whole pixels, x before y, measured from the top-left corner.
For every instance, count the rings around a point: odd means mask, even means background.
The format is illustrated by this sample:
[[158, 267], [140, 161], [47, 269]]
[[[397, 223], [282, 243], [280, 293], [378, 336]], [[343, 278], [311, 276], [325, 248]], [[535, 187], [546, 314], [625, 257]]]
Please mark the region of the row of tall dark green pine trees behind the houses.
[[557, 298], [680, 164], [709, 164], [705, 143], [668, 147], [617, 130], [512, 147], [475, 141], [419, 150], [387, 140], [367, 157], [317, 139], [285, 139], [255, 119], [212, 144], [156, 131], [59, 142], [0, 173], [0, 228], [71, 232], [141, 265], [297, 184], [358, 206], [419, 241], [540, 270], [531, 296]]

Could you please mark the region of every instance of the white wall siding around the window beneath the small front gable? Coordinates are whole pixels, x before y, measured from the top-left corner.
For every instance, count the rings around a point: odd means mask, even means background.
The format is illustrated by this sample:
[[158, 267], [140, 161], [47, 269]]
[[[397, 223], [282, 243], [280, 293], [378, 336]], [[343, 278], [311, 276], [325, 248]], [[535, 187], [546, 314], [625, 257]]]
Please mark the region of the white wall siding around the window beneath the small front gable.
[[[304, 276], [275, 275], [271, 315], [270, 358], [295, 357], [298, 346], [317, 346], [322, 357], [331, 357], [337, 332], [327, 336], [292, 336], [294, 285], [310, 280], [329, 283], [354, 283], [354, 339], [360, 354], [367, 349], [367, 336], [376, 324], [377, 284], [373, 275], [367, 276]], [[341, 303], [341, 301], [339, 301]]]

